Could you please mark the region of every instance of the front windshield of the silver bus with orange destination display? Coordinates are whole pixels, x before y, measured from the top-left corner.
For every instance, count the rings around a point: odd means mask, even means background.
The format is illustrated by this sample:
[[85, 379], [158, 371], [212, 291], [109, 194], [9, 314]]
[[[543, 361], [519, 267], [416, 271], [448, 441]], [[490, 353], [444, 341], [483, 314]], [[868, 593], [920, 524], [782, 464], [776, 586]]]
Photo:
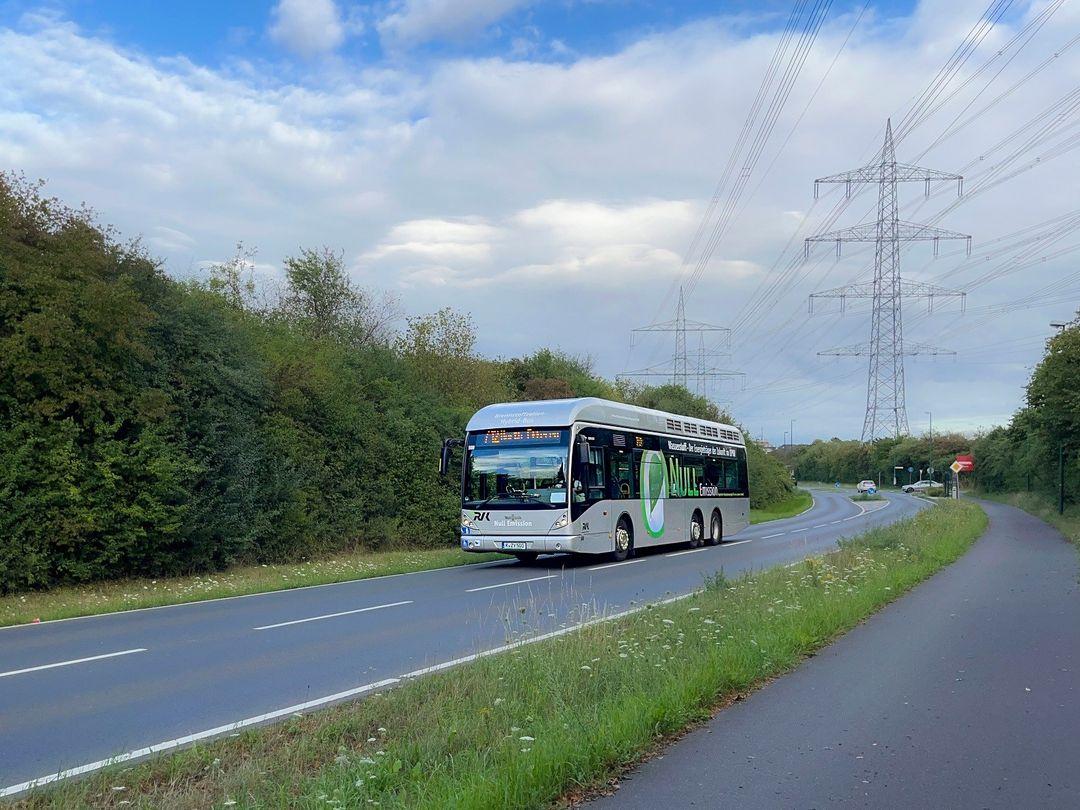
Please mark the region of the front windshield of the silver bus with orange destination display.
[[569, 431], [472, 433], [465, 447], [465, 509], [566, 508]]

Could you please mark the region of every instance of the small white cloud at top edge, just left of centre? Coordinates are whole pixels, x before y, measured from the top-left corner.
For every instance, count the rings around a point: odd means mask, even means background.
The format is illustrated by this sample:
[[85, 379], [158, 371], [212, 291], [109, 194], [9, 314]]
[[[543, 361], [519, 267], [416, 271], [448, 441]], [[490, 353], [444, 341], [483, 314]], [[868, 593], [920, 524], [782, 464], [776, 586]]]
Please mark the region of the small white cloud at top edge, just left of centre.
[[462, 40], [475, 36], [511, 11], [532, 0], [402, 0], [378, 23], [379, 35], [391, 46], [431, 40]]

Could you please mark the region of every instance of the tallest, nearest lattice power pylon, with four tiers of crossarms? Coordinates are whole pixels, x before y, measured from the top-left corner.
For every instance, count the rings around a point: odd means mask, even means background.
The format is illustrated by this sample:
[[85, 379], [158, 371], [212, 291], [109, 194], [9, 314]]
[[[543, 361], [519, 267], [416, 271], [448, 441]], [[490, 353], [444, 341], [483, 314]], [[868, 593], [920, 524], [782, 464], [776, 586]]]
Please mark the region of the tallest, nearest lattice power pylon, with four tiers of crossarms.
[[932, 284], [907, 282], [900, 276], [900, 247], [903, 242], [933, 242], [934, 255], [937, 243], [943, 239], [962, 239], [968, 242], [971, 253], [971, 237], [966, 233], [947, 231], [929, 225], [907, 222], [900, 218], [896, 187], [901, 183], [922, 181], [926, 192], [930, 184], [950, 180], [957, 184], [957, 193], [963, 192], [963, 177], [948, 172], [939, 172], [922, 166], [912, 166], [896, 162], [892, 139], [892, 121], [886, 124], [885, 145], [880, 159], [862, 168], [819, 177], [814, 180], [814, 198], [822, 183], [842, 183], [850, 197], [853, 184], [876, 184], [878, 186], [877, 220], [863, 222], [852, 228], [843, 228], [829, 233], [810, 237], [806, 240], [806, 254], [813, 242], [836, 242], [837, 256], [845, 242], [873, 242], [874, 281], [869, 284], [850, 284], [836, 289], [814, 293], [810, 297], [839, 298], [842, 307], [848, 298], [869, 298], [873, 300], [870, 339], [868, 343], [840, 347], [818, 352], [834, 356], [869, 356], [869, 379], [866, 387], [866, 417], [863, 420], [863, 441], [895, 437], [907, 434], [907, 405], [904, 393], [904, 356], [916, 354], [955, 354], [947, 349], [939, 349], [924, 343], [904, 345], [902, 302], [904, 298], [927, 298], [933, 306], [935, 298], [960, 298], [964, 294], [937, 287]]

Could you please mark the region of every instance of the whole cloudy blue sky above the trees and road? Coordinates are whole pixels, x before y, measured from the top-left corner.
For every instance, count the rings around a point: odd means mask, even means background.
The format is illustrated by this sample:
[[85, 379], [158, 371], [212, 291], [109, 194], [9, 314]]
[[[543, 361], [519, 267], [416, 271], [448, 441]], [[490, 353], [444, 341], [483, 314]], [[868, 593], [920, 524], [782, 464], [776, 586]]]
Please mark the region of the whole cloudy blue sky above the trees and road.
[[[242, 242], [272, 287], [327, 245], [403, 318], [455, 307], [486, 355], [557, 347], [609, 377], [670, 362], [673, 335], [631, 329], [672, 319], [681, 285], [688, 319], [733, 327], [705, 334], [703, 362], [744, 376], [707, 393], [775, 444], [795, 420], [801, 443], [861, 433], [866, 359], [820, 352], [865, 349], [867, 302], [811, 313], [808, 296], [874, 258], [804, 258], [804, 237], [876, 204], [815, 201], [813, 180], [872, 160], [932, 87], [897, 159], [962, 173], [964, 195], [904, 184], [901, 216], [971, 234], [972, 254], [904, 246], [909, 282], [968, 293], [963, 311], [905, 300], [906, 340], [956, 352], [907, 359], [907, 411], [917, 433], [931, 414], [973, 432], [1022, 405], [1050, 323], [1080, 307], [1080, 222], [1062, 219], [1080, 207], [1080, 3], [1003, 2], [935, 85], [989, 0], [833, 0], [770, 108], [755, 98], [788, 64], [791, 2], [0, 0], [0, 168], [91, 204], [175, 278]], [[775, 124], [747, 161], [755, 110]], [[724, 177], [717, 211], [743, 191], [696, 254]]]

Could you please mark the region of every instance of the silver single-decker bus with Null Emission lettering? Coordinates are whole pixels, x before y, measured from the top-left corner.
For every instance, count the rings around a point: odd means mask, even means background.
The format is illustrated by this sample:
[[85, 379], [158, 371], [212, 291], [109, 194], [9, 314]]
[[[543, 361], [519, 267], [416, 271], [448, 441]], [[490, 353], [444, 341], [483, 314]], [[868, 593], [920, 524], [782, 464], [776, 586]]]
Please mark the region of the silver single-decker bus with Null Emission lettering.
[[596, 397], [476, 411], [462, 447], [461, 548], [523, 562], [669, 543], [718, 545], [750, 524], [746, 446], [730, 424]]

